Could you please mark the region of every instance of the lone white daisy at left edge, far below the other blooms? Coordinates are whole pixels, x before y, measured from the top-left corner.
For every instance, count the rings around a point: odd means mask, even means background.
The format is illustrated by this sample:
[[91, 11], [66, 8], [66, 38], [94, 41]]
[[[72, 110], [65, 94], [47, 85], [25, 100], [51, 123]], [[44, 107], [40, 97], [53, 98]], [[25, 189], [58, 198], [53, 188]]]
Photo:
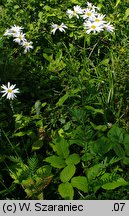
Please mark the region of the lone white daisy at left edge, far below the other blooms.
[[2, 97], [7, 96], [7, 99], [14, 99], [17, 96], [15, 94], [20, 93], [19, 89], [15, 89], [16, 84], [10, 85], [10, 82], [8, 82], [8, 85], [5, 86], [4, 84], [1, 86], [2, 90], [1, 93], [3, 93]]

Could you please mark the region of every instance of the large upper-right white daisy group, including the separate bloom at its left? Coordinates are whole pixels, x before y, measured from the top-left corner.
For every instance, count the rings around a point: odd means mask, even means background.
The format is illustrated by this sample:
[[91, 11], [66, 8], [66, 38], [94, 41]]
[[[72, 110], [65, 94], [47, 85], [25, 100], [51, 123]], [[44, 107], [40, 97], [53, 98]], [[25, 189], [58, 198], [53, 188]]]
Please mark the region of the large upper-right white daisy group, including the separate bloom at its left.
[[[105, 15], [98, 12], [100, 9], [90, 2], [87, 2], [86, 4], [86, 8], [81, 8], [80, 6], [76, 5], [73, 7], [73, 10], [68, 9], [66, 11], [66, 14], [70, 19], [73, 17], [82, 19], [83, 26], [86, 29], [87, 34], [90, 34], [91, 32], [97, 33], [104, 30], [113, 32], [113, 25], [111, 25], [110, 22], [106, 22], [104, 20]], [[66, 28], [67, 26], [64, 23], [62, 23], [61, 25], [52, 24], [51, 33], [55, 34], [57, 29], [61, 32], [65, 32]]]

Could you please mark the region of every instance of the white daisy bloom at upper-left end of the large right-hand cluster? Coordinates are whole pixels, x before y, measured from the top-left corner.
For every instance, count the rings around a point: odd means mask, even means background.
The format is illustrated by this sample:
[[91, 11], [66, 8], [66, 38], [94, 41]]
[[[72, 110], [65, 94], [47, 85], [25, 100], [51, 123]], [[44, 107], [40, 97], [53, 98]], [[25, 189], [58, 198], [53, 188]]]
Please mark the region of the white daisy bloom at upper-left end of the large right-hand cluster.
[[73, 7], [73, 11], [68, 9], [66, 11], [67, 15], [69, 16], [69, 18], [71, 19], [72, 17], [77, 17], [79, 19], [79, 14], [83, 14], [83, 10], [80, 6], [76, 5]]

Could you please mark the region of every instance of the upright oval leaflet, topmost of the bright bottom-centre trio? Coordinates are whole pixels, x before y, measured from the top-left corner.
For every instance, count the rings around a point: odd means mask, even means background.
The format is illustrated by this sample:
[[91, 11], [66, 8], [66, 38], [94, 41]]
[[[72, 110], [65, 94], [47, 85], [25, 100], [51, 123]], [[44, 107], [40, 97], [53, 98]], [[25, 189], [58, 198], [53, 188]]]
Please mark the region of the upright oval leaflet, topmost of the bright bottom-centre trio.
[[60, 173], [60, 179], [62, 182], [68, 182], [75, 174], [76, 167], [74, 165], [66, 166]]

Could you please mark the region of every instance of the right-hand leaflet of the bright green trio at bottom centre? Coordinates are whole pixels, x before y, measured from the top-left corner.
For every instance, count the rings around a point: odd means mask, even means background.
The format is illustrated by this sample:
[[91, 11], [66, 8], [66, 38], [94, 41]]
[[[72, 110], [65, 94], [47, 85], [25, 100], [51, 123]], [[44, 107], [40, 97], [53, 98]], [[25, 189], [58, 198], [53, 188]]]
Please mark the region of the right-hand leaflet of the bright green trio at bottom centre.
[[88, 193], [88, 182], [86, 177], [83, 176], [73, 177], [71, 179], [71, 184], [73, 187], [77, 188], [78, 190]]

